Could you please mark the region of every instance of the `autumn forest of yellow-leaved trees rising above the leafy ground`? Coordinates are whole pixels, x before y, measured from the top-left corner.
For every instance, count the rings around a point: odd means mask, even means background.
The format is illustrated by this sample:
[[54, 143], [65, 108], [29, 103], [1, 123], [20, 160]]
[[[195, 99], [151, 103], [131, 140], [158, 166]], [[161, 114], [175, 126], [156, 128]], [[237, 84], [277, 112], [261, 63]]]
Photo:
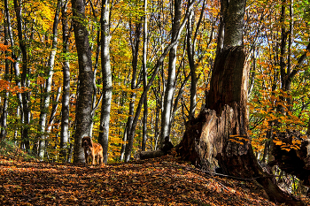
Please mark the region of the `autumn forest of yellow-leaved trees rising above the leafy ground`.
[[168, 137], [202, 170], [260, 177], [274, 202], [296, 203], [279, 190], [283, 179], [290, 193], [310, 186], [308, 0], [0, 6], [6, 145], [81, 164], [90, 136], [112, 164], [162, 149]]

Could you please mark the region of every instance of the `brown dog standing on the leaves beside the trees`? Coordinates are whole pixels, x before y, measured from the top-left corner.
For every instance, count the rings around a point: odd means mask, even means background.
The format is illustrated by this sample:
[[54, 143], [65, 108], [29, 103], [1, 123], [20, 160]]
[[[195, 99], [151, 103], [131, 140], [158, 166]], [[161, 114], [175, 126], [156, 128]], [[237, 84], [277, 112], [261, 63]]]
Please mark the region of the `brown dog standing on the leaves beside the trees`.
[[81, 139], [81, 147], [84, 149], [85, 161], [86, 164], [89, 164], [89, 156], [92, 159], [92, 164], [102, 164], [104, 160], [104, 150], [102, 149], [101, 144], [93, 143], [91, 137], [84, 136]]

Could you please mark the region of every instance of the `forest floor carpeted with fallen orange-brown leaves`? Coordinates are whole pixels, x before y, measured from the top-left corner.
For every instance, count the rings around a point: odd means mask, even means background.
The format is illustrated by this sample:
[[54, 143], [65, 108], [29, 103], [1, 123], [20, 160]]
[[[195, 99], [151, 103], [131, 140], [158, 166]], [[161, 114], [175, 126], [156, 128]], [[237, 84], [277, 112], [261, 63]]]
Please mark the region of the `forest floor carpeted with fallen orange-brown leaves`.
[[0, 156], [0, 205], [275, 205], [255, 183], [174, 156], [105, 166]]

